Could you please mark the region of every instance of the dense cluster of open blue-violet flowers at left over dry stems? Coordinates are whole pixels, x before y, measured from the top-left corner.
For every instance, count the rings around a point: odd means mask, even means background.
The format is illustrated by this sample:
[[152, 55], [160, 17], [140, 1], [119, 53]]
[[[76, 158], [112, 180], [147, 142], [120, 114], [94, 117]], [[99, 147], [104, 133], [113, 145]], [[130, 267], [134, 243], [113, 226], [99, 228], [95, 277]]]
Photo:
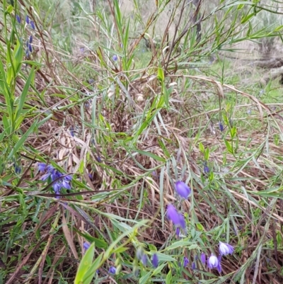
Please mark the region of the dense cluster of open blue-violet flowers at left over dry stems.
[[45, 163], [38, 164], [39, 171], [46, 171], [41, 178], [42, 181], [45, 181], [47, 178], [51, 178], [51, 181], [56, 181], [53, 183], [53, 189], [56, 194], [59, 194], [62, 188], [71, 189], [71, 179], [70, 175], [64, 175], [57, 171], [54, 166], [47, 165]]

